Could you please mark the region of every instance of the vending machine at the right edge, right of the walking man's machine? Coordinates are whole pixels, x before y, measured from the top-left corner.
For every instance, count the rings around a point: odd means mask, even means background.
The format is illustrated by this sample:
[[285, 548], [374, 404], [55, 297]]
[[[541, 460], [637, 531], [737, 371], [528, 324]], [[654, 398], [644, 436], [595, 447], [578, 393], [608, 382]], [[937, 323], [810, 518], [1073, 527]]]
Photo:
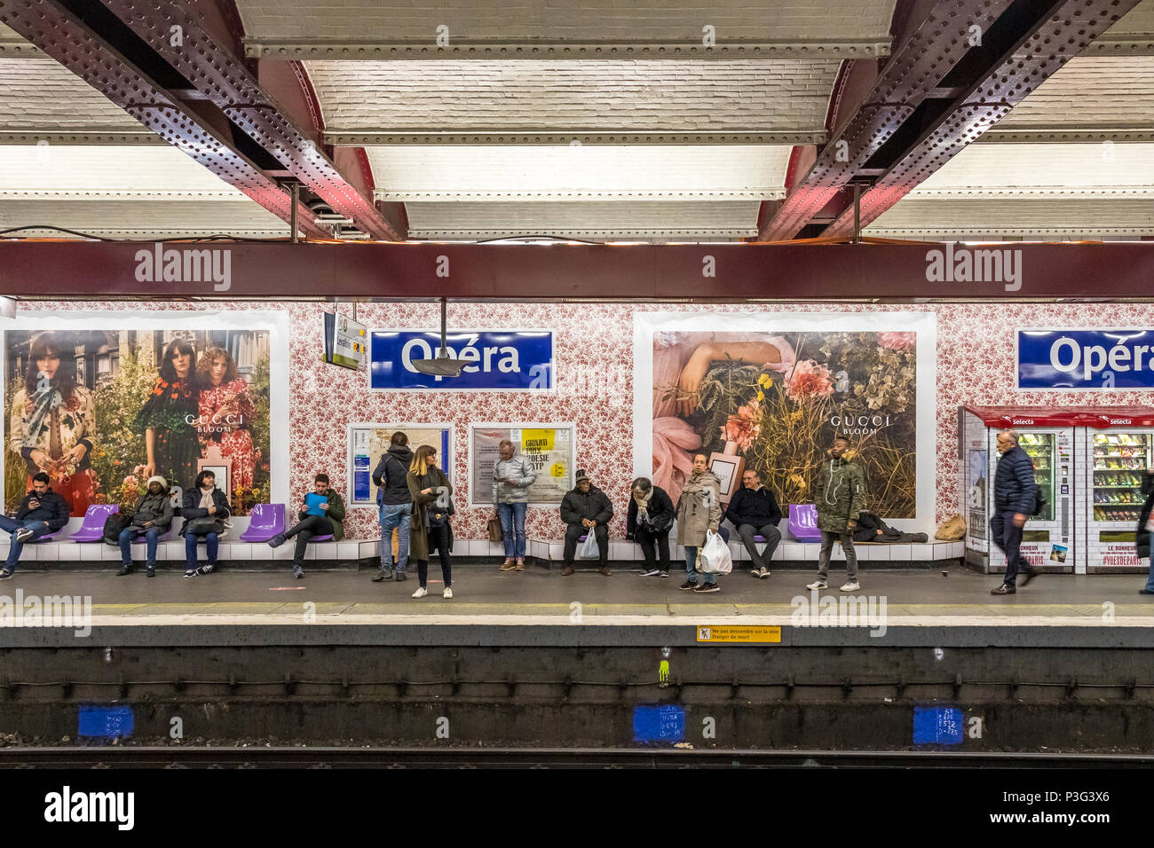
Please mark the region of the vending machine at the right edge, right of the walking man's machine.
[[[1154, 410], [1085, 408], [1079, 436], [1086, 459], [1079, 487], [1088, 493], [1080, 516], [1085, 570], [1145, 571], [1134, 550], [1141, 493], [1147, 468], [1154, 467]], [[1082, 562], [1079, 562], [1082, 565]]]

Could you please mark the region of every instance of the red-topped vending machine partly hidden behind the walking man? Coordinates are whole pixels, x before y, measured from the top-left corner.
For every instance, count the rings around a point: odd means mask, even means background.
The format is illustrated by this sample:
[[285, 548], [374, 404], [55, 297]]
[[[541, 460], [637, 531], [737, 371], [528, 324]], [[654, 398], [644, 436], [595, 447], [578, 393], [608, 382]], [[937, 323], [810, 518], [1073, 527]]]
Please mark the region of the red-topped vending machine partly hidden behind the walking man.
[[997, 434], [1016, 430], [1019, 446], [1034, 464], [1034, 479], [1044, 506], [1026, 520], [1022, 558], [1046, 571], [1073, 571], [1079, 555], [1077, 528], [1078, 413], [1064, 408], [1031, 410], [1007, 406], [966, 406], [961, 411], [959, 448], [962, 456], [962, 498], [966, 516], [966, 561], [987, 573], [1005, 571], [1005, 555], [990, 541], [995, 512], [994, 474]]

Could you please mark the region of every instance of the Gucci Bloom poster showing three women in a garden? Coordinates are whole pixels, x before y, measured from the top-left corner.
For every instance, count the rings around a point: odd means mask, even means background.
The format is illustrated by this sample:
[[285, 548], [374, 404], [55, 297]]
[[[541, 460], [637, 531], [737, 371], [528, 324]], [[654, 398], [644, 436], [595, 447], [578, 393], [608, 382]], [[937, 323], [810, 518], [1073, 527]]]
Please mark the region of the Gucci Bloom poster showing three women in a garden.
[[148, 327], [108, 314], [7, 330], [5, 508], [40, 471], [74, 517], [134, 506], [152, 475], [190, 488], [202, 468], [234, 515], [269, 503], [271, 331], [217, 317]]

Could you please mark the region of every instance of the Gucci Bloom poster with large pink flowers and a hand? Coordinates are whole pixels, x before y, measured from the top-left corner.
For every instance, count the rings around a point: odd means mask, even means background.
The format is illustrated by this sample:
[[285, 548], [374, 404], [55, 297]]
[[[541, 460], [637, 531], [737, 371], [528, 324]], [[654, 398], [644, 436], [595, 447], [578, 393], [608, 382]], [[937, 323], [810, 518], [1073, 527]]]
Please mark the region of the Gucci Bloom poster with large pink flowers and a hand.
[[916, 513], [913, 331], [653, 333], [653, 478], [676, 500], [694, 453], [736, 453], [782, 504], [814, 503], [849, 440], [868, 509]]

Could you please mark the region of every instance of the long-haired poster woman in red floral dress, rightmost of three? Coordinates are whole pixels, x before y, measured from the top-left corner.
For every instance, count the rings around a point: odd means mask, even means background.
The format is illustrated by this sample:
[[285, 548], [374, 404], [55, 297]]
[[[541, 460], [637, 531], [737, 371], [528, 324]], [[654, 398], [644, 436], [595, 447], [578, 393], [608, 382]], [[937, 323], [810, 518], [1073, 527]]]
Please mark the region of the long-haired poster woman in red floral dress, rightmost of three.
[[257, 451], [253, 445], [252, 426], [255, 408], [248, 393], [248, 382], [237, 375], [237, 363], [223, 347], [204, 351], [196, 366], [196, 381], [201, 387], [200, 431], [202, 453], [208, 457], [213, 445], [220, 456], [232, 459], [233, 503], [239, 489], [253, 488]]

